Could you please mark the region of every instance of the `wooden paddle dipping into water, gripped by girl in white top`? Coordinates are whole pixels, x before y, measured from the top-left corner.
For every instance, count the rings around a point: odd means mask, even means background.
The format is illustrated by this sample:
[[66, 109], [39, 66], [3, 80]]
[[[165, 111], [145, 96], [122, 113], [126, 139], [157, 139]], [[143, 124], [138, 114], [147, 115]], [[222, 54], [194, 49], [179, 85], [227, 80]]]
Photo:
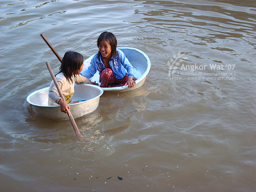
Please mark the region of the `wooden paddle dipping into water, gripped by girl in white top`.
[[[49, 62], [46, 62], [46, 65], [47, 65], [47, 68], [48, 68], [48, 70], [49, 70], [49, 72], [50, 72], [50, 74], [51, 74], [51, 76], [52, 76], [52, 79], [53, 79], [53, 81], [54, 81], [54, 84], [55, 84], [55, 86], [56, 86], [58, 92], [59, 92], [59, 95], [60, 95], [61, 99], [62, 99], [63, 101], [65, 101], [65, 98], [64, 98], [64, 96], [63, 96], [61, 90], [59, 89], [57, 80], [56, 80], [56, 78], [55, 78], [55, 76], [54, 76], [54, 74], [53, 74], [53, 71], [52, 71], [52, 68], [51, 68]], [[65, 101], [65, 102], [66, 102], [66, 101]], [[69, 114], [70, 114], [70, 115], [69, 115]], [[79, 141], [82, 141], [82, 135], [80, 134], [80, 132], [79, 132], [79, 130], [78, 130], [78, 128], [77, 128], [76, 122], [75, 122], [75, 120], [74, 120], [74, 118], [73, 118], [73, 116], [72, 116], [70, 110], [69, 110], [69, 114], [68, 114], [69, 120], [70, 120], [70, 122], [71, 122], [71, 124], [72, 124], [72, 126], [73, 126], [73, 128], [74, 128], [76, 137], [77, 137], [77, 139], [78, 139]]]

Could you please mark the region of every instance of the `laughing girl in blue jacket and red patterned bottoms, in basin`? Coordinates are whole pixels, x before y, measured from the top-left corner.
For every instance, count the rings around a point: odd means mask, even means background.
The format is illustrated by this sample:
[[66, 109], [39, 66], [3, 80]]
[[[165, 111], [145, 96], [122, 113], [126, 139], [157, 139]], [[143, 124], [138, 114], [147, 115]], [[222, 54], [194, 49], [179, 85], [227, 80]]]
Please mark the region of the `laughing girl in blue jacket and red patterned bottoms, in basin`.
[[81, 75], [90, 79], [97, 71], [100, 74], [100, 87], [119, 87], [136, 84], [134, 68], [121, 50], [116, 49], [116, 36], [110, 32], [100, 34], [97, 46], [99, 52], [94, 55], [89, 68]]

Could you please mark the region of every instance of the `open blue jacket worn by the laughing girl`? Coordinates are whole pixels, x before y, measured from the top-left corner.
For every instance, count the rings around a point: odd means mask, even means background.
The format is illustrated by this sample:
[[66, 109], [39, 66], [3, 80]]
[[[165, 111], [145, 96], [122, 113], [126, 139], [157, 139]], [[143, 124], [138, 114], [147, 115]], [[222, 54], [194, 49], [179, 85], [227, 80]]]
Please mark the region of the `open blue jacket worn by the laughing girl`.
[[[134, 79], [134, 75], [133, 75], [134, 68], [132, 64], [125, 57], [124, 53], [121, 50], [117, 49], [116, 51], [119, 57], [115, 56], [114, 59], [113, 57], [111, 57], [110, 59], [110, 67], [114, 72], [115, 77], [117, 79], [122, 79], [126, 74], [128, 74], [128, 77], [133, 77]], [[99, 53], [96, 53], [93, 56], [91, 60], [91, 65], [89, 66], [89, 68], [86, 71], [80, 73], [82, 76], [90, 79], [92, 76], [94, 76], [94, 74], [97, 71], [99, 71], [99, 74], [100, 74], [101, 71], [106, 68], [101, 58], [98, 57], [98, 54]]]

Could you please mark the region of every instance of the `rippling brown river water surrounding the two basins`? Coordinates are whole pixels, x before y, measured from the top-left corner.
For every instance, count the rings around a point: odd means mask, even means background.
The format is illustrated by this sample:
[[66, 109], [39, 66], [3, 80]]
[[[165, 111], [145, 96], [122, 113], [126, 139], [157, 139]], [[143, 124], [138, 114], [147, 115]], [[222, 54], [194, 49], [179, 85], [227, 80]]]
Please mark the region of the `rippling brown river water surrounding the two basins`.
[[[254, 192], [255, 11], [248, 0], [0, 4], [0, 190]], [[42, 118], [26, 102], [51, 82], [45, 62], [54, 73], [60, 65], [40, 34], [60, 56], [86, 59], [103, 31], [152, 67], [141, 88], [105, 92], [75, 119], [78, 142], [69, 119]]]

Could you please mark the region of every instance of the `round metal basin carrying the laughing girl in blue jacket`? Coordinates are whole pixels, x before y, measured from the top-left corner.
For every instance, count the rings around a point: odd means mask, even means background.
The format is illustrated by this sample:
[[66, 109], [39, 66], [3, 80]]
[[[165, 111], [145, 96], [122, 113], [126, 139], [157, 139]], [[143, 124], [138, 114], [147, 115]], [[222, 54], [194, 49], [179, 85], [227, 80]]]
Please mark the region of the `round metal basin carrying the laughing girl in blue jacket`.
[[[129, 88], [128, 86], [121, 86], [121, 87], [115, 87], [115, 88], [102, 88], [102, 89], [104, 91], [125, 92], [125, 91], [131, 91], [141, 87], [146, 80], [146, 75], [148, 74], [148, 72], [150, 72], [150, 67], [151, 67], [150, 58], [148, 58], [148, 56], [143, 51], [136, 48], [120, 47], [117, 49], [121, 50], [125, 54], [126, 58], [133, 65], [134, 76], [137, 78], [136, 84], [133, 88]], [[94, 55], [90, 56], [88, 59], [84, 61], [82, 72], [87, 70], [87, 68], [90, 66], [91, 60]], [[95, 75], [90, 79], [100, 84], [98, 72], [96, 72]]]

